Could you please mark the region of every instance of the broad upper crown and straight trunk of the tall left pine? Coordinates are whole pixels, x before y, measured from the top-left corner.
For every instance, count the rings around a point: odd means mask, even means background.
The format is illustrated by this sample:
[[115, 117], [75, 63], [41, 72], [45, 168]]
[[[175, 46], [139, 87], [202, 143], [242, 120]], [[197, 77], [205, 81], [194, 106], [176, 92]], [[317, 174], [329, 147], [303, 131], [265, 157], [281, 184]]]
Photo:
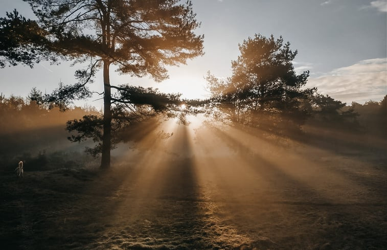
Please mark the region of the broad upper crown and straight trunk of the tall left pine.
[[[112, 99], [109, 67], [132, 76], [149, 74], [156, 81], [168, 77], [166, 65], [185, 63], [202, 55], [203, 36], [190, 1], [179, 0], [25, 0], [38, 17], [29, 20], [16, 10], [0, 18], [0, 66], [32, 65], [42, 59], [89, 62], [76, 71], [79, 80], [47, 96], [49, 102], [90, 96], [85, 87], [103, 68], [104, 113], [101, 167], [110, 165], [112, 103], [127, 103], [127, 96]], [[119, 88], [122, 87], [115, 87]], [[66, 104], [66, 102], [64, 102]]]

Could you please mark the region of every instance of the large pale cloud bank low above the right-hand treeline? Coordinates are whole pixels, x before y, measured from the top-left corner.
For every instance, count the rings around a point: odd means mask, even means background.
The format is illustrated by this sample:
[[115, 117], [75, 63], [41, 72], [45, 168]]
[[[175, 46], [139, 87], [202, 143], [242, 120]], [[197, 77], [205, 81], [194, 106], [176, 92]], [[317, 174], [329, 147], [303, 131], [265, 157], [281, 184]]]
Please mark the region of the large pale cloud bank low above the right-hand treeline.
[[387, 58], [362, 60], [340, 67], [323, 76], [310, 78], [308, 87], [336, 100], [364, 103], [380, 101], [387, 95]]

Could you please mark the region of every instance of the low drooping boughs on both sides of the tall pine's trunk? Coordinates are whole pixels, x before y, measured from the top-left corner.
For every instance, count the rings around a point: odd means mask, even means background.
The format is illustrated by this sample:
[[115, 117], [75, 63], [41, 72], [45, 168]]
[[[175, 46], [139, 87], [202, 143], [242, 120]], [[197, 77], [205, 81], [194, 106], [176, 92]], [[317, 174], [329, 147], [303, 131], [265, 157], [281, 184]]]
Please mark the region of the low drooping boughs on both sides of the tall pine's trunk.
[[[112, 108], [111, 122], [111, 147], [114, 148], [120, 142], [135, 141], [130, 130], [143, 125], [146, 130], [146, 120], [156, 119], [156, 116], [166, 115], [175, 117], [176, 111], [193, 112], [185, 108], [179, 110], [181, 104], [180, 94], [164, 94], [152, 88], [133, 87], [127, 85], [114, 86], [119, 94], [114, 95], [111, 100], [115, 103]], [[116, 103], [117, 102], [117, 103]], [[156, 119], [157, 120], [157, 119]], [[86, 115], [82, 119], [67, 121], [67, 130], [77, 131], [77, 135], [69, 137], [70, 141], [82, 142], [92, 139], [98, 143], [94, 148], [87, 148], [86, 152], [96, 156], [102, 151], [103, 142], [103, 116]], [[135, 132], [141, 133], [138, 130]]]

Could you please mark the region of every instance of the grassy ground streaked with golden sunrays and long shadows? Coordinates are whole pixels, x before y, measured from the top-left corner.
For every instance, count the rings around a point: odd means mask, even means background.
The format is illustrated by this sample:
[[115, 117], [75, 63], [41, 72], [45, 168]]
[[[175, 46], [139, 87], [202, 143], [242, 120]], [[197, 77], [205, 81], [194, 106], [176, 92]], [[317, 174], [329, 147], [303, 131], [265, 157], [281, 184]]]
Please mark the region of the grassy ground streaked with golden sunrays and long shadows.
[[104, 172], [3, 172], [0, 248], [385, 249], [387, 161], [354, 154], [152, 152]]

